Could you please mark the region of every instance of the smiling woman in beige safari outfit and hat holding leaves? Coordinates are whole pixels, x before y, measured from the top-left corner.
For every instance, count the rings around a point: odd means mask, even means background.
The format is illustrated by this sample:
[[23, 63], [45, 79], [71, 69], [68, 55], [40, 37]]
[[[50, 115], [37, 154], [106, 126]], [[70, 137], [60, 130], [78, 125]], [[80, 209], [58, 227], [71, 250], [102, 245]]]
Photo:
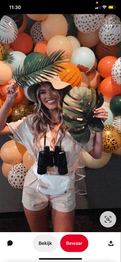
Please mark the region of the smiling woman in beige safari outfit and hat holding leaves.
[[[76, 161], [81, 144], [73, 139], [69, 134], [62, 118], [61, 107], [61, 91], [56, 90], [62, 88], [64, 82], [56, 81], [55, 83], [51, 78], [49, 81], [41, 82], [36, 85], [36, 92], [33, 89], [28, 89], [28, 97], [32, 101], [36, 101], [34, 114], [29, 115], [17, 122], [6, 123], [9, 109], [13, 106], [17, 97], [18, 87], [16, 84], [10, 83], [7, 86], [8, 95], [5, 103], [0, 109], [0, 134], [13, 135], [13, 139], [26, 146], [29, 153], [34, 157], [34, 165], [28, 171], [24, 189], [23, 189], [23, 205], [24, 211], [32, 232], [48, 232], [49, 231], [49, 204], [51, 206], [53, 231], [54, 232], [72, 232], [74, 225], [75, 214], [75, 191], [74, 191], [74, 169], [73, 164]], [[65, 87], [68, 84], [66, 83]], [[57, 87], [55, 89], [55, 87]], [[94, 117], [106, 120], [108, 113], [103, 108], [95, 109]], [[49, 146], [51, 154], [55, 146], [61, 147], [63, 152], [66, 152], [66, 161], [68, 173], [65, 176], [58, 174], [59, 171], [55, 166], [49, 166], [46, 163], [46, 173], [59, 175], [58, 179], [64, 177], [69, 179], [67, 190], [64, 193], [59, 192], [59, 185], [55, 191], [48, 194], [46, 192], [46, 185], [48, 182], [45, 180], [45, 188], [41, 191], [40, 177], [43, 175], [37, 173], [37, 161], [39, 151], [44, 151], [45, 146]], [[94, 158], [102, 156], [102, 132], [91, 134], [90, 141], [83, 146], [86, 151]], [[61, 161], [60, 161], [61, 162]], [[65, 172], [66, 173], [66, 172]], [[52, 177], [52, 176], [47, 176]], [[52, 180], [52, 185], [54, 180]], [[47, 184], [46, 184], [47, 182]], [[62, 183], [65, 186], [65, 183]], [[47, 191], [48, 192], [48, 191]]]

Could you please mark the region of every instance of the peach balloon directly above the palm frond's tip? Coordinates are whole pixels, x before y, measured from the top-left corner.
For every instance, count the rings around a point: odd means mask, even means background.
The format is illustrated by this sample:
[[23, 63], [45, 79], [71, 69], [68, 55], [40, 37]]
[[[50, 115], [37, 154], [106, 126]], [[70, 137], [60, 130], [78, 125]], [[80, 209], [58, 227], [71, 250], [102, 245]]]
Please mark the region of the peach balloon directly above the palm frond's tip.
[[50, 54], [52, 52], [63, 50], [65, 58], [64, 59], [70, 59], [73, 48], [71, 45], [71, 42], [66, 38], [66, 36], [63, 35], [55, 35], [53, 38], [51, 38], [47, 44], [47, 54]]

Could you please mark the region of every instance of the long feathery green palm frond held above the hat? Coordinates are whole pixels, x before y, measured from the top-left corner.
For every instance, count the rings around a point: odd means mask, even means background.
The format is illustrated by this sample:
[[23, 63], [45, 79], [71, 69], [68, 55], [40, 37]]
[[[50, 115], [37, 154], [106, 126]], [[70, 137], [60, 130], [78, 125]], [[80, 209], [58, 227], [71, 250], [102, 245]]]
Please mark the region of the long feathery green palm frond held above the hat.
[[40, 78], [45, 79], [46, 77], [53, 77], [54, 73], [63, 69], [62, 61], [65, 58], [65, 51], [59, 50], [51, 54], [44, 55], [43, 57], [37, 58], [31, 61], [29, 65], [25, 65], [20, 69], [16, 69], [13, 72], [13, 77], [16, 80], [16, 84], [22, 88], [29, 87], [32, 84], [40, 82]]

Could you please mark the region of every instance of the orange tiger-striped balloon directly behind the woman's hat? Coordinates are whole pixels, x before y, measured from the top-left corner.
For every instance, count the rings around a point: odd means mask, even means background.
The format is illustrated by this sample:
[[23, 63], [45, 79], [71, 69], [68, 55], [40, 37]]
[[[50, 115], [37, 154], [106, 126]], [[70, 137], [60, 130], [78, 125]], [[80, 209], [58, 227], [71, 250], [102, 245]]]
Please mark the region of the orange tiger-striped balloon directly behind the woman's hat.
[[73, 65], [72, 63], [67, 63], [63, 65], [64, 69], [60, 69], [59, 77], [62, 81], [67, 82], [74, 86], [80, 86], [82, 82], [82, 74], [77, 66]]

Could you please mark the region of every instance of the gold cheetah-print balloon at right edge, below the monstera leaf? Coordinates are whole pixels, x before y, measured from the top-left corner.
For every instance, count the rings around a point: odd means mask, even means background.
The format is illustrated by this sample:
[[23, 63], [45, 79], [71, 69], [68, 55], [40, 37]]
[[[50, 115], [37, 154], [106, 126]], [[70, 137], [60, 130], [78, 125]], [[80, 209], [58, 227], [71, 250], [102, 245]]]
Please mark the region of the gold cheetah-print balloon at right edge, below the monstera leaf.
[[121, 134], [112, 125], [106, 125], [103, 130], [103, 152], [115, 152], [120, 147]]

